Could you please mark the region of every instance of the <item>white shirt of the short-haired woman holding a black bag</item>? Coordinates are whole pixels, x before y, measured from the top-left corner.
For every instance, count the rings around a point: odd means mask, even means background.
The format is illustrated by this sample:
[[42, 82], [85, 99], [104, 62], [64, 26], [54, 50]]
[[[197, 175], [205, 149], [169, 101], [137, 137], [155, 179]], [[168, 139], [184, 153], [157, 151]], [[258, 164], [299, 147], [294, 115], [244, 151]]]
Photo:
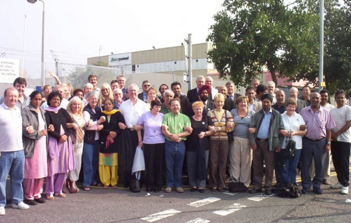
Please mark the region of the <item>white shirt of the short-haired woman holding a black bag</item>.
[[[305, 120], [301, 115], [294, 113], [291, 117], [287, 115], [286, 111], [281, 114], [281, 118], [283, 120], [284, 128], [286, 131], [299, 131], [301, 125], [306, 125]], [[302, 136], [292, 136], [292, 140], [296, 142], [296, 149], [302, 149]], [[286, 140], [289, 137], [285, 136], [283, 143], [281, 144], [281, 148], [284, 149], [286, 146]]]

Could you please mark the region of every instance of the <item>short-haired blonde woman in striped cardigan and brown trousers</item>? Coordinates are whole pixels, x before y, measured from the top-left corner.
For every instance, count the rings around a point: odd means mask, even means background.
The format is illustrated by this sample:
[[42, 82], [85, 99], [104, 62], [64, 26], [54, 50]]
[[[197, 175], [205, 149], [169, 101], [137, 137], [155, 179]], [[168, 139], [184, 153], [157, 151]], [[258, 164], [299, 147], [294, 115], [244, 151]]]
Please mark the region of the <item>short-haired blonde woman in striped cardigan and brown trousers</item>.
[[225, 169], [229, 143], [227, 133], [233, 131], [235, 124], [228, 110], [223, 109], [225, 97], [218, 93], [213, 101], [215, 109], [207, 113], [211, 132], [209, 152], [209, 187], [211, 191], [225, 191]]

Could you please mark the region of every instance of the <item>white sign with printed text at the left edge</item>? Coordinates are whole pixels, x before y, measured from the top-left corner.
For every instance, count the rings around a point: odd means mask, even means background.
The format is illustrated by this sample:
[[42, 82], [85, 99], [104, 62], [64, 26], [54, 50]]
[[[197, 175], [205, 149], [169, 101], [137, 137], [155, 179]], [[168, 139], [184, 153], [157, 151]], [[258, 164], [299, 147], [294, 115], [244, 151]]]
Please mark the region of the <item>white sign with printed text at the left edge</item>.
[[0, 81], [2, 83], [14, 83], [19, 76], [19, 60], [0, 58]]

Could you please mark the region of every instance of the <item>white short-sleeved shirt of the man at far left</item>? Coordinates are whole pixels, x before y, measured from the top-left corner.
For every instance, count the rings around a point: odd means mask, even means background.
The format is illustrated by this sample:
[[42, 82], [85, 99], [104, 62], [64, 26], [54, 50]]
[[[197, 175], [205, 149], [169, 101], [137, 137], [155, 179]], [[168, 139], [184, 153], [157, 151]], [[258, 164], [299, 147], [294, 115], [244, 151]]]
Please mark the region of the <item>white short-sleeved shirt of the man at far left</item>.
[[22, 116], [18, 106], [10, 109], [5, 103], [0, 105], [0, 151], [23, 150]]

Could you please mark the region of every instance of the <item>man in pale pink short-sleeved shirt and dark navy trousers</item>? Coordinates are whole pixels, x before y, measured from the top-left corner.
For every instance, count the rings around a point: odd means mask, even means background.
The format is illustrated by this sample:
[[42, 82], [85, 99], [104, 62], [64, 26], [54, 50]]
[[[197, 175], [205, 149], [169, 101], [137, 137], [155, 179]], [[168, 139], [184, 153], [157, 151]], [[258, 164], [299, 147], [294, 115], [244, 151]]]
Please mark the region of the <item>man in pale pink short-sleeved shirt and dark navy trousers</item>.
[[[335, 127], [334, 120], [328, 109], [320, 106], [321, 95], [313, 92], [310, 96], [311, 105], [301, 110], [307, 126], [307, 134], [302, 139], [302, 193], [307, 194], [313, 185], [315, 194], [322, 194], [323, 159], [330, 150], [331, 129]], [[311, 182], [309, 168], [312, 158], [315, 162], [316, 175]]]

